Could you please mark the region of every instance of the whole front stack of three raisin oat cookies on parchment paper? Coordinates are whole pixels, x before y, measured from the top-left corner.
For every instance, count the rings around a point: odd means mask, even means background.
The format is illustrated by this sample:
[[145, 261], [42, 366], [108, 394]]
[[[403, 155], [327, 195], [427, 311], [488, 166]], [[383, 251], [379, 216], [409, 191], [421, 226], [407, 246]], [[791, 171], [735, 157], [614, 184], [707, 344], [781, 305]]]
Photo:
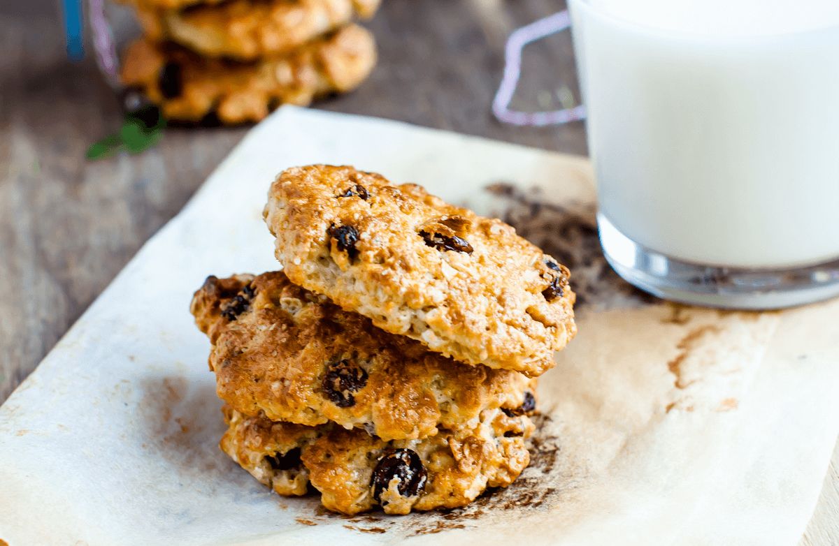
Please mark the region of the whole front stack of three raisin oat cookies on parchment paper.
[[568, 270], [498, 219], [352, 167], [290, 168], [282, 271], [209, 277], [191, 312], [221, 449], [333, 511], [460, 507], [529, 462], [536, 376], [576, 332]]

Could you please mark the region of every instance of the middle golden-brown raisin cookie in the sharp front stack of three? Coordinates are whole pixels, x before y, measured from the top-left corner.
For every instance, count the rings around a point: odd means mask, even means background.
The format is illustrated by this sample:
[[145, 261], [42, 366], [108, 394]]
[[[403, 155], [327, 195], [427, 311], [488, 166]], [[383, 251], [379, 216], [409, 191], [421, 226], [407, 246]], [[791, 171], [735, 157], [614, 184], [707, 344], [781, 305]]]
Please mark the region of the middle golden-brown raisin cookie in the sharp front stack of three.
[[219, 397], [246, 415], [414, 439], [475, 425], [483, 409], [526, 411], [533, 400], [534, 379], [432, 353], [281, 272], [211, 276], [190, 310], [210, 337]]

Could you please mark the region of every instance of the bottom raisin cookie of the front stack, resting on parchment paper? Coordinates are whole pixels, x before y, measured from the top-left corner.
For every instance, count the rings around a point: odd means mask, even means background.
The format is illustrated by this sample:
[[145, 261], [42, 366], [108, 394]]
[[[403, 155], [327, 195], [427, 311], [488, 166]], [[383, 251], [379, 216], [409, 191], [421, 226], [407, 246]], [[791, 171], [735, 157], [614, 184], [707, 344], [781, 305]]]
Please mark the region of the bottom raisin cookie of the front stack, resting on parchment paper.
[[221, 450], [280, 495], [301, 495], [308, 477], [330, 510], [355, 514], [453, 508], [487, 487], [507, 487], [529, 463], [526, 415], [487, 409], [473, 427], [423, 440], [391, 440], [336, 425], [305, 427], [226, 408]]

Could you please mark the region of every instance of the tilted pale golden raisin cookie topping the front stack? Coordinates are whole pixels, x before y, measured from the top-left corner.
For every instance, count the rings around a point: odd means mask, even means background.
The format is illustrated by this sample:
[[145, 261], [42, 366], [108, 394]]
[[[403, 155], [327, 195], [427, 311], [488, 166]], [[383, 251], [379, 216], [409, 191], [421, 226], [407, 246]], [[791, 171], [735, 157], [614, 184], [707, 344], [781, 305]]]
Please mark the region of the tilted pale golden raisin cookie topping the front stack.
[[565, 266], [420, 186], [294, 167], [263, 215], [292, 282], [461, 362], [534, 377], [576, 333]]

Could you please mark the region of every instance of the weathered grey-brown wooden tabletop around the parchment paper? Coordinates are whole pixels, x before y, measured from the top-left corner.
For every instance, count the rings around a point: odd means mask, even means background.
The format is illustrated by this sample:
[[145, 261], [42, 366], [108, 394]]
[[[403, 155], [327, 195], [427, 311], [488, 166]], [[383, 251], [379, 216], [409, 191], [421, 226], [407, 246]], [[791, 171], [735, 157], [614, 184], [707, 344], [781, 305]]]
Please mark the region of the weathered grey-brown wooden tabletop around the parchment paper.
[[[84, 161], [121, 113], [95, 64], [65, 59], [53, 0], [0, 5], [0, 402], [34, 369], [143, 242], [174, 216], [247, 131], [171, 130], [140, 156]], [[586, 153], [581, 123], [503, 126], [489, 105], [512, 28], [549, 0], [385, 0], [362, 89], [318, 107], [528, 146]], [[576, 91], [571, 39], [529, 46], [514, 106], [558, 107]], [[279, 143], [282, 145], [282, 143]], [[839, 445], [801, 544], [839, 544]]]

